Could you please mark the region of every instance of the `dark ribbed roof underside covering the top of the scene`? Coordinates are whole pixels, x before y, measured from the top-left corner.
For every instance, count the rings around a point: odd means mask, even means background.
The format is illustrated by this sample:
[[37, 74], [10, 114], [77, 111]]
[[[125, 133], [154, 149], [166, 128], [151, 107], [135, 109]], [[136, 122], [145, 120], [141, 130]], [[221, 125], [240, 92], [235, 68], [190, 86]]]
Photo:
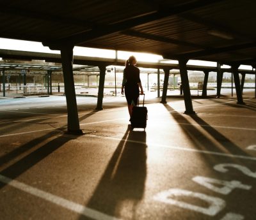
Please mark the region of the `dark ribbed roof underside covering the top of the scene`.
[[256, 1], [2, 1], [0, 37], [255, 64]]

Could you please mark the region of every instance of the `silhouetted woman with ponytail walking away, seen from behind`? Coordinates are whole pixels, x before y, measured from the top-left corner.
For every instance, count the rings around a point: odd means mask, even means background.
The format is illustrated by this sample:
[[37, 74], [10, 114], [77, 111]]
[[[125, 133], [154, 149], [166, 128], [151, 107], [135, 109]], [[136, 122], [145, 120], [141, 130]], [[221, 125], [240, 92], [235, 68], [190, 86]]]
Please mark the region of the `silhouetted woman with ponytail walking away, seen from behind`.
[[136, 65], [136, 58], [132, 55], [125, 63], [124, 78], [122, 82], [122, 91], [128, 104], [129, 115], [132, 115], [132, 107], [138, 103], [138, 97], [143, 94], [143, 88], [140, 80], [140, 70]]

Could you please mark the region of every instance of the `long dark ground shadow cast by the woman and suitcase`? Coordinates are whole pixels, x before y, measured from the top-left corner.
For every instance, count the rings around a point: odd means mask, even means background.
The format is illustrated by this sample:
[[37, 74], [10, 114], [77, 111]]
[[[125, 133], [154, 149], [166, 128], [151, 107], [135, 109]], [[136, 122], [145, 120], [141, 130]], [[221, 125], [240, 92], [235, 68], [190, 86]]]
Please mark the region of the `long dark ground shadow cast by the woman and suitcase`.
[[136, 219], [147, 177], [146, 149], [145, 131], [131, 131], [128, 126], [86, 207], [115, 217], [125, 209]]

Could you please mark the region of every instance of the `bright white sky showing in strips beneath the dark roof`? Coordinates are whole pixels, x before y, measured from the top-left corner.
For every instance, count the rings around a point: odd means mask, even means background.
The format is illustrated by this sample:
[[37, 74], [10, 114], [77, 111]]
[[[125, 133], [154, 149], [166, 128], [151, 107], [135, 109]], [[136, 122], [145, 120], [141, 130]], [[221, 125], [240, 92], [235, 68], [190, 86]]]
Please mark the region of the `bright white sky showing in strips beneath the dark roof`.
[[[23, 40], [12, 40], [6, 38], [0, 38], [0, 48], [6, 50], [22, 50], [31, 52], [45, 52], [51, 54], [60, 54], [59, 50], [50, 50], [49, 47], [44, 47], [42, 43], [35, 41], [23, 41]], [[115, 50], [104, 50], [97, 48], [88, 47], [74, 47], [74, 55], [89, 56], [89, 57], [105, 57], [105, 58], [115, 58]], [[161, 55], [147, 54], [140, 52], [125, 52], [118, 51], [118, 59], [128, 59], [130, 55], [134, 55], [136, 59], [140, 62], [159, 62], [163, 60]], [[166, 62], [166, 61], [165, 61]], [[178, 63], [178, 61], [167, 61], [170, 63]], [[198, 65], [198, 66], [216, 66], [216, 62], [209, 61], [195, 61], [189, 60], [188, 64]], [[225, 66], [228, 67], [228, 66]], [[252, 66], [241, 65], [239, 69], [252, 70]]]

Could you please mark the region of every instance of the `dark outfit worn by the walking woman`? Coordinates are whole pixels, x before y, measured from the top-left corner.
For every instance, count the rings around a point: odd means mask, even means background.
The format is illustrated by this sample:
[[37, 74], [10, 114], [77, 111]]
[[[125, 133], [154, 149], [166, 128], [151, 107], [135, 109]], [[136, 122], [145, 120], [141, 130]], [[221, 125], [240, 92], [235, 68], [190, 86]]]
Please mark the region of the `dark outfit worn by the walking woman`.
[[128, 105], [137, 105], [138, 103], [138, 97], [140, 96], [139, 82], [141, 82], [139, 68], [134, 65], [127, 66], [124, 69], [123, 86]]

